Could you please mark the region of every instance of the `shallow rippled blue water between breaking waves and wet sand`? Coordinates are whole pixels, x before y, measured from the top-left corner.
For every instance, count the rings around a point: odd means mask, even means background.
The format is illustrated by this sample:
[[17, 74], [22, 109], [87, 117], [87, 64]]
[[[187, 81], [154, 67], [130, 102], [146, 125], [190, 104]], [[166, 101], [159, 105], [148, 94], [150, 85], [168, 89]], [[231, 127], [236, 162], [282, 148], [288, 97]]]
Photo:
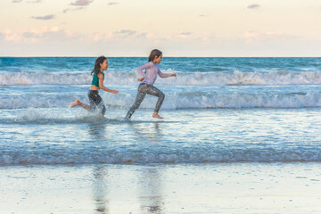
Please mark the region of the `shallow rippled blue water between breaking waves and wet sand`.
[[138, 110], [130, 122], [121, 110], [100, 121], [54, 110], [15, 110], [20, 119], [1, 124], [1, 165], [321, 161], [319, 109], [162, 111], [161, 121]]

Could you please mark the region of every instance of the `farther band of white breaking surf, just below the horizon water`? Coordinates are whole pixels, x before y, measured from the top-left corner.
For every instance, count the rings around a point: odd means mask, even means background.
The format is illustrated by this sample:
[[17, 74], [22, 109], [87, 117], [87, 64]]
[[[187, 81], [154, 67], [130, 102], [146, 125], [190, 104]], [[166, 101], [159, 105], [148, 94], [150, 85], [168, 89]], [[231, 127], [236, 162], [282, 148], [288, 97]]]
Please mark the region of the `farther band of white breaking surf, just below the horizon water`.
[[[164, 70], [174, 72], [175, 70]], [[136, 84], [137, 74], [107, 71], [106, 84]], [[1, 86], [21, 85], [89, 85], [92, 77], [88, 73], [29, 73], [3, 72]], [[159, 78], [158, 84], [173, 86], [274, 86], [274, 85], [318, 85], [321, 84], [321, 71], [288, 72], [194, 72], [178, 73], [177, 78]]]

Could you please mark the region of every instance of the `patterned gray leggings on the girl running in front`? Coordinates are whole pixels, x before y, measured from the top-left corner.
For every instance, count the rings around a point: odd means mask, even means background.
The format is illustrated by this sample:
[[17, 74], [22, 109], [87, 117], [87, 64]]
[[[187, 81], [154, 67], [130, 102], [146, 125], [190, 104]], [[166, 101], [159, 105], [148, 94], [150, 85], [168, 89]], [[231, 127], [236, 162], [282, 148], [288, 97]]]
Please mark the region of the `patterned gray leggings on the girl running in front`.
[[130, 119], [130, 117], [134, 114], [134, 112], [136, 111], [136, 109], [138, 109], [139, 105], [143, 102], [144, 100], [144, 96], [148, 94], [148, 95], [154, 95], [154, 96], [158, 96], [158, 101], [156, 103], [155, 106], [155, 110], [156, 112], [160, 111], [161, 109], [161, 103], [163, 103], [165, 95], [164, 93], [162, 93], [157, 87], [152, 86], [152, 85], [148, 85], [146, 83], [142, 83], [138, 86], [138, 93], [136, 96], [136, 101], [133, 104], [133, 106], [129, 109], [128, 114], [126, 115], [125, 119]]

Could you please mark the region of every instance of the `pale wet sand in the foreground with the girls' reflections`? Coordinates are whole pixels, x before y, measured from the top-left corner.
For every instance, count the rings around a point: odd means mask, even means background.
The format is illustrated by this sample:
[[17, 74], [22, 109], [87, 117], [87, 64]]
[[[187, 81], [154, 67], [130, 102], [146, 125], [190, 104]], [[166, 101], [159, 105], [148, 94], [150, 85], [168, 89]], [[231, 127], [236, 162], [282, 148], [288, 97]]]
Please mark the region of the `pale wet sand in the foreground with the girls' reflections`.
[[320, 163], [0, 168], [0, 213], [318, 213]]

